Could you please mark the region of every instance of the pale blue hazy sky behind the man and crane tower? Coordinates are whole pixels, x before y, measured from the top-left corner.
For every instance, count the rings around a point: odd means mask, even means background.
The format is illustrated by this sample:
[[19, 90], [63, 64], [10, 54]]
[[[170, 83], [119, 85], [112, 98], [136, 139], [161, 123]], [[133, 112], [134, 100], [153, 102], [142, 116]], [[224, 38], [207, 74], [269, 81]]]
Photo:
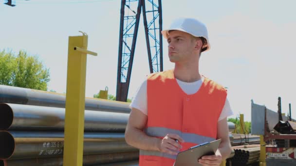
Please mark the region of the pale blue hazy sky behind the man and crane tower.
[[[48, 89], [66, 92], [68, 36], [89, 35], [86, 96], [105, 86], [116, 93], [120, 0], [0, 0], [0, 50], [26, 50], [50, 68]], [[251, 99], [296, 118], [295, 0], [163, 0], [163, 28], [176, 17], [194, 17], [208, 28], [211, 50], [202, 54], [203, 75], [228, 87], [234, 116], [251, 120]], [[165, 41], [165, 40], [164, 40]], [[173, 68], [164, 42], [164, 69]], [[132, 98], [149, 73], [141, 16], [129, 86]]]

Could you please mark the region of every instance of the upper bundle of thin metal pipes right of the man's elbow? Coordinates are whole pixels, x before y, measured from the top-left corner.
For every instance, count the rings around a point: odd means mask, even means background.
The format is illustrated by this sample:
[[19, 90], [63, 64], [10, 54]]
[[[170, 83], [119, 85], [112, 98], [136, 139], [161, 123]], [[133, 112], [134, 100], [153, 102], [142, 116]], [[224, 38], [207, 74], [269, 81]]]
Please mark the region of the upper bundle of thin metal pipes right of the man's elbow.
[[260, 144], [260, 137], [257, 135], [232, 133], [232, 136], [233, 141], [231, 142], [231, 146]]

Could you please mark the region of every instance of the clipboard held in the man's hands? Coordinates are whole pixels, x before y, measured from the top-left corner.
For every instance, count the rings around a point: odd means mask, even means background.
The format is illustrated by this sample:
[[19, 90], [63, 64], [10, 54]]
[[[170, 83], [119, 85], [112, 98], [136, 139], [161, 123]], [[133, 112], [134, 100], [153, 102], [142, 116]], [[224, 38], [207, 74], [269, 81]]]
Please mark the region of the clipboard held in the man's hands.
[[198, 160], [206, 155], [215, 154], [221, 139], [205, 142], [178, 153], [174, 166], [202, 166]]

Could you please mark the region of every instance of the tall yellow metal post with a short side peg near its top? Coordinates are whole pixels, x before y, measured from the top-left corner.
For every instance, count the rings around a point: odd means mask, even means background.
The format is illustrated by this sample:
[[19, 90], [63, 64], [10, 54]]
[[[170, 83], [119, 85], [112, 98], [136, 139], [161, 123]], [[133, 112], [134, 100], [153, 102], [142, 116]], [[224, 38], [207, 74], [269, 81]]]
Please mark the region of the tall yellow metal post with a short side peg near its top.
[[63, 166], [82, 166], [88, 35], [69, 36]]

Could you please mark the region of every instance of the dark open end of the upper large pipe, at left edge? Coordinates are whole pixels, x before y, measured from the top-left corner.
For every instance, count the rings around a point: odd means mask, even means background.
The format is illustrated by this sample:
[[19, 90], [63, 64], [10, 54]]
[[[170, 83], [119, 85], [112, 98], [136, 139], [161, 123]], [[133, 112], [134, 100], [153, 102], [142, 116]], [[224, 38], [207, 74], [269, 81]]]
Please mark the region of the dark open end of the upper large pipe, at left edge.
[[6, 103], [0, 103], [0, 130], [7, 130], [13, 122], [12, 108]]

